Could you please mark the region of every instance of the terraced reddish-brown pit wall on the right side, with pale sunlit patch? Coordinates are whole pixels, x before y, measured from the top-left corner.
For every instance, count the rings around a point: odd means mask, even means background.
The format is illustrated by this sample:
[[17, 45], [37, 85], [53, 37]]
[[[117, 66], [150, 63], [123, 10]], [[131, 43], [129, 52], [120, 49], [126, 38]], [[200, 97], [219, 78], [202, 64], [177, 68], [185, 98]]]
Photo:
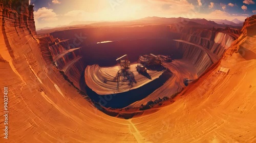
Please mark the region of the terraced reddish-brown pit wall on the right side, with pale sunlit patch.
[[[238, 35], [222, 31], [203, 28], [183, 28], [181, 40], [203, 46], [209, 49], [212, 53], [216, 54], [220, 59], [224, 51], [235, 40], [232, 35]], [[194, 45], [178, 42], [177, 47], [182, 49], [183, 58], [189, 59], [191, 63], [197, 68], [198, 76], [203, 74], [208, 67], [214, 64], [205, 51], [197, 48]]]

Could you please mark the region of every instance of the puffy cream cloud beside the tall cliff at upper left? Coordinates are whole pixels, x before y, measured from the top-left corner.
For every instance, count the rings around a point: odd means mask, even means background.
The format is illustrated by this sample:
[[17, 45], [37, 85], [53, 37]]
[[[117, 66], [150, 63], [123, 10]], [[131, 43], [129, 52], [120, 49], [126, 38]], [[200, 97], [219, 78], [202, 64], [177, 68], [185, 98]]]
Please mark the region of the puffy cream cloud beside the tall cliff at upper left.
[[58, 20], [57, 14], [53, 12], [53, 9], [42, 7], [34, 12], [35, 19], [41, 19], [44, 21], [55, 21]]

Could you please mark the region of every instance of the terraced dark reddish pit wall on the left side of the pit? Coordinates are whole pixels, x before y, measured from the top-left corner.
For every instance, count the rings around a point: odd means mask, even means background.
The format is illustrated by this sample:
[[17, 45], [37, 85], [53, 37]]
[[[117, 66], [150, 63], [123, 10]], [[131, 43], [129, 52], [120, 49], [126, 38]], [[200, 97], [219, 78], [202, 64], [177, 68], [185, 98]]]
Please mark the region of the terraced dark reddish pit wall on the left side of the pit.
[[79, 88], [81, 75], [86, 68], [86, 64], [82, 62], [81, 47], [74, 46], [72, 40], [59, 40], [49, 34], [41, 35], [39, 39], [44, 61], [50, 65], [55, 65], [65, 74], [63, 76], [67, 76], [67, 80]]

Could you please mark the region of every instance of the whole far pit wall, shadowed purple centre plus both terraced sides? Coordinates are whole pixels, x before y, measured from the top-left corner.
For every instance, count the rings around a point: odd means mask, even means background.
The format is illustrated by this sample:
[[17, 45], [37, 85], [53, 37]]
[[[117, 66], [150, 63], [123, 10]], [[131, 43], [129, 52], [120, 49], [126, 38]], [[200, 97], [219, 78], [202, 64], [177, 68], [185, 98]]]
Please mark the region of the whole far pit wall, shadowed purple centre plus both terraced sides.
[[[220, 59], [238, 35], [239, 30], [231, 28], [216, 29], [184, 26], [180, 31], [177, 31], [167, 25], [88, 26], [51, 33], [50, 36], [53, 39], [58, 38], [59, 41], [68, 41], [52, 45], [50, 49], [52, 49], [53, 56], [57, 56], [60, 54], [58, 51], [63, 52], [64, 50], [80, 47], [79, 50], [70, 52], [72, 54], [63, 54], [63, 58], [57, 60], [55, 64], [60, 69], [69, 67], [68, 69], [65, 68], [65, 74], [75, 83], [76, 87], [85, 90], [83, 70], [87, 65], [114, 66], [117, 64], [116, 58], [123, 54], [128, 54], [131, 62], [136, 62], [141, 54], [173, 54], [174, 59], [191, 61], [191, 64], [197, 68], [198, 76], [200, 76], [213, 64], [209, 56], [204, 50], [195, 45], [174, 40], [184, 40], [203, 46]], [[104, 43], [103, 41], [112, 42]], [[77, 58], [80, 59], [77, 60]]]

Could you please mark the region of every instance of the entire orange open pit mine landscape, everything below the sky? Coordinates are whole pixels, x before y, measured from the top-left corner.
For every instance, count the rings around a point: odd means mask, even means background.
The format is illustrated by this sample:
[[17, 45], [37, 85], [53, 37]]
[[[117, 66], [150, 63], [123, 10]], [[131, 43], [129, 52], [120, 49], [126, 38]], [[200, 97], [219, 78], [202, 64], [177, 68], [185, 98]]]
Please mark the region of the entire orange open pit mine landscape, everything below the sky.
[[0, 142], [256, 142], [256, 15], [36, 32], [23, 0], [0, 18]]

